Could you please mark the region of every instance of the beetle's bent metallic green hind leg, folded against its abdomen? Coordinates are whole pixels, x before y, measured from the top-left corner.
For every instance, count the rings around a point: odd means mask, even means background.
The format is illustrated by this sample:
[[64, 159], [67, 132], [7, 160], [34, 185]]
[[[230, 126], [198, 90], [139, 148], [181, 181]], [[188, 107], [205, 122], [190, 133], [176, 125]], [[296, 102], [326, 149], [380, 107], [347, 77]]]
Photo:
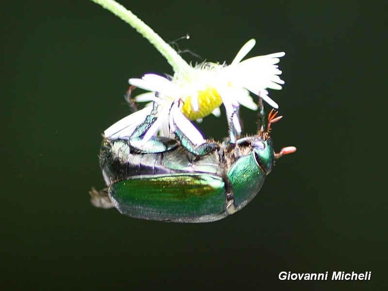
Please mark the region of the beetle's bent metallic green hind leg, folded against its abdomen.
[[153, 136], [144, 143], [143, 139], [147, 131], [150, 130], [152, 126], [155, 126], [155, 122], [158, 119], [157, 113], [158, 103], [154, 102], [151, 113], [147, 115], [144, 122], [138, 125], [129, 137], [129, 146], [133, 150], [140, 153], [160, 153], [178, 146], [178, 141], [161, 136]]

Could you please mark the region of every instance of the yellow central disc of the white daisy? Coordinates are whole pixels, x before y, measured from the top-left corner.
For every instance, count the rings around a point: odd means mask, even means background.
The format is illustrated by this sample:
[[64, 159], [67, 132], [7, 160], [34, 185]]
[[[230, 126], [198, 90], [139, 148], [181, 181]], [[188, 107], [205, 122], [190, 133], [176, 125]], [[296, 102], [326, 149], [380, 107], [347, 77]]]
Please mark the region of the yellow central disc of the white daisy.
[[198, 111], [194, 111], [191, 96], [183, 97], [181, 112], [190, 120], [208, 116], [214, 109], [222, 104], [222, 99], [214, 87], [206, 86], [205, 90], [198, 90]]

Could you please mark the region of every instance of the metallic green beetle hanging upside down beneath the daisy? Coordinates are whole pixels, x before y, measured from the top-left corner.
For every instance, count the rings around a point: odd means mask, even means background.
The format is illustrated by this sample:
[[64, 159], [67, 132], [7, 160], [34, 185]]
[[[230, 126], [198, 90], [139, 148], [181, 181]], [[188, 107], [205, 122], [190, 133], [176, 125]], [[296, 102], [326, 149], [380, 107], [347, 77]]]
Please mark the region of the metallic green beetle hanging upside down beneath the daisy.
[[[99, 161], [108, 188], [92, 189], [95, 206], [165, 222], [220, 220], [256, 196], [275, 159], [296, 150], [286, 147], [275, 154], [269, 132], [282, 116], [276, 117], [274, 111], [268, 116], [267, 129], [259, 126], [253, 136], [236, 139], [230, 129], [227, 141], [207, 141], [198, 149], [182, 132], [176, 132], [178, 139], [154, 137], [140, 148], [136, 142], [152, 125], [154, 114], [129, 140], [103, 140]], [[259, 124], [263, 123], [261, 102]]]

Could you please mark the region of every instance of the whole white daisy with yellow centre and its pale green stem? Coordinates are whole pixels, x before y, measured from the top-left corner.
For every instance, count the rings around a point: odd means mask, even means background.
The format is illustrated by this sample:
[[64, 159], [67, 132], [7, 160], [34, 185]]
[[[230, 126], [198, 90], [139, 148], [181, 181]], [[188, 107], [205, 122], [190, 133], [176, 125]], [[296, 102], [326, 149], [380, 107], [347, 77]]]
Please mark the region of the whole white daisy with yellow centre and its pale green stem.
[[[252, 110], [258, 108], [249, 92], [259, 95], [272, 107], [278, 108], [275, 101], [268, 97], [266, 89], [278, 90], [281, 89], [281, 84], [284, 84], [284, 81], [279, 78], [281, 71], [276, 65], [279, 58], [284, 56], [284, 52], [242, 61], [255, 46], [256, 41], [251, 39], [242, 47], [230, 65], [204, 63], [192, 67], [156, 32], [125, 7], [114, 0], [93, 1], [110, 10], [141, 33], [162, 53], [174, 70], [174, 77], [171, 80], [155, 74], [147, 74], [142, 79], [129, 80], [130, 84], [152, 92], [136, 97], [136, 101], [158, 103], [158, 118], [146, 132], [145, 142], [157, 132], [163, 136], [171, 136], [175, 130], [172, 124], [185, 135], [190, 135], [190, 130], [194, 128], [194, 125], [186, 118], [182, 118], [183, 115], [178, 113], [177, 108], [190, 120], [201, 120], [210, 113], [219, 116], [219, 107], [224, 104], [229, 128], [231, 128], [230, 121], [233, 118], [231, 122], [237, 134], [241, 133], [241, 125], [237, 115], [233, 113], [237, 111], [240, 104]], [[159, 97], [157, 99], [155, 99], [156, 93]], [[178, 100], [182, 100], [183, 103]], [[130, 138], [130, 135], [138, 125], [144, 122], [151, 110], [152, 107], [146, 106], [145, 109], [127, 116], [105, 130], [105, 136], [110, 139]], [[170, 122], [175, 119], [178, 122]], [[199, 132], [195, 129], [195, 134], [190, 139], [198, 145], [202, 140], [198, 138], [197, 133]], [[199, 135], [201, 136], [200, 133]]]

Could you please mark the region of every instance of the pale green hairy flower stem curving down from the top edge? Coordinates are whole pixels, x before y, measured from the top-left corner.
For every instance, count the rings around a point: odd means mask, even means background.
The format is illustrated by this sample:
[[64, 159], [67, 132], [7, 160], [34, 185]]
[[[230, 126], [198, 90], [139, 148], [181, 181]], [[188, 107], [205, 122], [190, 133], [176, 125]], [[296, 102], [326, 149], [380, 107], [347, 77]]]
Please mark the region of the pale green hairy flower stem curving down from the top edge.
[[146, 25], [146, 23], [126, 9], [123, 5], [114, 0], [92, 1], [109, 10], [115, 16], [120, 17], [137, 32], [143, 35], [143, 37], [145, 37], [162, 54], [168, 64], [172, 66], [175, 73], [186, 75], [191, 70], [191, 66], [182, 59], [175, 49], [167, 44], [162, 37], [160, 37], [148, 25]]

